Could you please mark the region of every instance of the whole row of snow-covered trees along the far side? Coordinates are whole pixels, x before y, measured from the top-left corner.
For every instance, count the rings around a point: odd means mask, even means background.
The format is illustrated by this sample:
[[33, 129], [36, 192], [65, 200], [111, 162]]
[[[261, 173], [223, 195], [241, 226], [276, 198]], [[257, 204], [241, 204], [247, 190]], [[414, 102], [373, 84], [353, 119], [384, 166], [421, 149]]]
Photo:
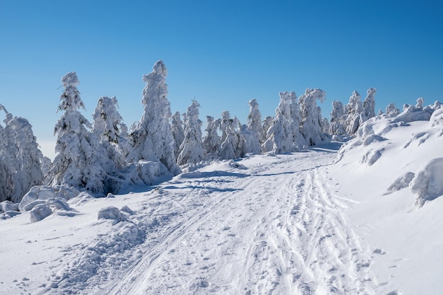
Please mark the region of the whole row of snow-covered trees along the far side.
[[[89, 122], [80, 112], [85, 106], [76, 73], [64, 75], [58, 107], [62, 116], [54, 127], [57, 155], [52, 163], [42, 155], [28, 120], [14, 117], [0, 105], [6, 114], [5, 125], [0, 125], [0, 202], [20, 202], [34, 185], [66, 185], [105, 195], [126, 185], [150, 185], [159, 175], [177, 175], [181, 168], [201, 161], [301, 151], [333, 137], [352, 136], [375, 116], [374, 88], [369, 88], [363, 101], [357, 91], [347, 105], [334, 100], [330, 120], [322, 117], [317, 105], [326, 93], [308, 88], [299, 98], [294, 92], [279, 93], [274, 117], [263, 119], [257, 100], [250, 100], [246, 125], [229, 111], [217, 119], [207, 116], [203, 135], [196, 100], [185, 113], [171, 113], [167, 74], [160, 60], [143, 76], [144, 113], [129, 129], [115, 97], [99, 98]], [[386, 112], [396, 111], [394, 105], [386, 108]]]

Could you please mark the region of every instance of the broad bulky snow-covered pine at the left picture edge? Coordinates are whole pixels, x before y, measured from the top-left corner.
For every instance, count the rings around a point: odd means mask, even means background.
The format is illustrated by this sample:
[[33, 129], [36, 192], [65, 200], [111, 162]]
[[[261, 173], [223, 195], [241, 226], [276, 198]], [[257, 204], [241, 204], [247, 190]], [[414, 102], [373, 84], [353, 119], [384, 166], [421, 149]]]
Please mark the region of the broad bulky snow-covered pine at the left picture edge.
[[33, 135], [32, 126], [23, 117], [13, 117], [3, 105], [0, 109], [6, 113], [2, 128], [0, 158], [4, 165], [1, 170], [4, 174], [4, 192], [8, 192], [6, 199], [20, 202], [23, 195], [34, 185], [43, 182], [42, 166], [47, 165]]

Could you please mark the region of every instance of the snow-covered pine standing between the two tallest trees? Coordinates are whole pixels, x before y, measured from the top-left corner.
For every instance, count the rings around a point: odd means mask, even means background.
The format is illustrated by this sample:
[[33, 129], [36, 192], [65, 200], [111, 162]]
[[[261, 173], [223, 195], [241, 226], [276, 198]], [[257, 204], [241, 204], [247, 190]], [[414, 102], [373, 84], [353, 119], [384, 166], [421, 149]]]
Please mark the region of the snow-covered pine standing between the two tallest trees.
[[[108, 157], [115, 163], [117, 169], [127, 165], [129, 143], [126, 139], [127, 127], [118, 112], [117, 98], [103, 96], [98, 99], [96, 110], [93, 113], [93, 132], [103, 144]], [[111, 171], [108, 171], [111, 172]]]

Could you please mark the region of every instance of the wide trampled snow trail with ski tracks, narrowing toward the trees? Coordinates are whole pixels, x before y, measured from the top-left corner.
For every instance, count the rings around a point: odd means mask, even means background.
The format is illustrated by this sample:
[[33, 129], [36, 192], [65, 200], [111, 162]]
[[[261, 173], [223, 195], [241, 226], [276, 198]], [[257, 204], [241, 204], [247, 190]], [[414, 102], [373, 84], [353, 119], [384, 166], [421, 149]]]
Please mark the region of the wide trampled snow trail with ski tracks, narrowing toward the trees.
[[159, 185], [116, 225], [136, 231], [127, 247], [95, 258], [82, 284], [77, 261], [38, 294], [376, 294], [371, 255], [343, 213], [351, 201], [328, 186], [335, 156], [283, 155]]

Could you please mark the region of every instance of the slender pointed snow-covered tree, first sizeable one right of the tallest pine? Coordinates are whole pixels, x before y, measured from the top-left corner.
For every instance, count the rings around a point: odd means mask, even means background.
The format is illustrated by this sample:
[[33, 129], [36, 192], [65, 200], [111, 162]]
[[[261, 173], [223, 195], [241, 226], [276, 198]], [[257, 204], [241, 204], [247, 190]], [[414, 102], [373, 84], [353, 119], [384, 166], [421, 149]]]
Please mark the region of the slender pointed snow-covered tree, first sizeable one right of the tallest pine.
[[185, 116], [185, 139], [180, 145], [178, 165], [198, 163], [205, 158], [205, 146], [202, 141], [202, 121], [198, 118], [200, 104], [192, 100]]

